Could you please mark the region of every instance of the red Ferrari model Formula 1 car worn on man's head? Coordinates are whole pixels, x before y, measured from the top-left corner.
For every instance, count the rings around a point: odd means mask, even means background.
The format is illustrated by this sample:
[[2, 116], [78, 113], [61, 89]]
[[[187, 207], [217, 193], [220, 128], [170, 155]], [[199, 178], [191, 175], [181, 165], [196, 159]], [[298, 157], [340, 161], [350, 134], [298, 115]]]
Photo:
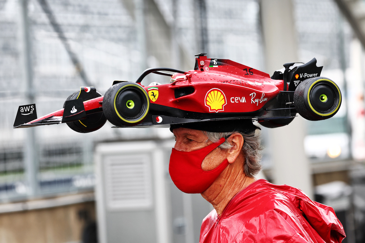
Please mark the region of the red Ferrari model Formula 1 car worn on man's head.
[[[289, 124], [296, 113], [312, 121], [327, 119], [337, 113], [341, 91], [320, 77], [322, 67], [316, 62], [285, 63], [270, 77], [231, 60], [199, 54], [194, 70], [150, 68], [136, 82], [114, 81], [104, 96], [94, 87], [81, 87], [63, 109], [41, 118], [35, 104], [19, 106], [14, 128], [66, 123], [87, 133], [107, 120], [116, 127], [169, 127], [225, 119], [254, 119], [276, 128]], [[142, 86], [150, 73], [169, 76], [170, 83]]]

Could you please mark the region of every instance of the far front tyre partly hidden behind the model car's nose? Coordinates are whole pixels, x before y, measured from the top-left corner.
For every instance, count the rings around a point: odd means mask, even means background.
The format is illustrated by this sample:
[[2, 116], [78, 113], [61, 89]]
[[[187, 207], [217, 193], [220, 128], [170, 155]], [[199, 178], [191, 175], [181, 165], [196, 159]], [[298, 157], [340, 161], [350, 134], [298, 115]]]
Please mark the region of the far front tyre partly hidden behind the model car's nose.
[[[75, 93], [71, 94], [66, 101], [70, 101], [72, 99], [77, 99], [78, 95], [80, 94], [80, 91], [76, 91]], [[100, 97], [101, 94], [99, 92], [96, 92], [95, 97]], [[82, 99], [82, 98], [81, 98]], [[85, 99], [82, 101], [87, 101], [88, 99]], [[66, 103], [66, 102], [65, 102]], [[65, 108], [64, 103], [64, 108]], [[104, 114], [102, 112], [99, 113], [93, 113], [86, 116], [85, 119], [74, 121], [74, 122], [66, 122], [66, 124], [75, 132], [78, 133], [89, 133], [94, 132], [98, 129], [100, 129], [105, 122], [107, 122], [107, 118], [105, 118]]]

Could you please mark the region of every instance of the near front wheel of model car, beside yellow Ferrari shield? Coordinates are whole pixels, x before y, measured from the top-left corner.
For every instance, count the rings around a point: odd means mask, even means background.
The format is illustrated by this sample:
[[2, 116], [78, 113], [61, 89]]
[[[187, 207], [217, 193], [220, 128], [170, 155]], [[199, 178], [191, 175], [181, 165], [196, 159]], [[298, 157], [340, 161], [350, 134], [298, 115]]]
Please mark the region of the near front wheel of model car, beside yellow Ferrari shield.
[[103, 113], [115, 126], [138, 125], [149, 109], [148, 94], [137, 83], [117, 83], [105, 92], [103, 98]]

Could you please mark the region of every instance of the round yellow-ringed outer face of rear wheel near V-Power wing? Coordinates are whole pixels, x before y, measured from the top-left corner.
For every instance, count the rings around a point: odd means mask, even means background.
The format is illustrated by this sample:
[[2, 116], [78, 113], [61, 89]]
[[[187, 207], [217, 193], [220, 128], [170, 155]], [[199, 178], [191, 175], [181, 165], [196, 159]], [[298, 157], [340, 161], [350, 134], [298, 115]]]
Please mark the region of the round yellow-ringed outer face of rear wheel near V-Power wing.
[[341, 105], [341, 93], [329, 79], [319, 79], [312, 83], [307, 98], [311, 110], [321, 116], [332, 115]]

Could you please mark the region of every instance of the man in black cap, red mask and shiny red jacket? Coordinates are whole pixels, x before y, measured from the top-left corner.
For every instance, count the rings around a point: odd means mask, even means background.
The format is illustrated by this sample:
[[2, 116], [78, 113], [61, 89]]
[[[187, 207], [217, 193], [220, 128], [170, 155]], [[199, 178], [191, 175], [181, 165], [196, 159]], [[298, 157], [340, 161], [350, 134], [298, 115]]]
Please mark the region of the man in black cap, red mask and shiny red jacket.
[[341, 242], [345, 232], [332, 208], [299, 189], [255, 179], [261, 169], [256, 129], [251, 120], [170, 128], [176, 138], [171, 179], [214, 207], [201, 225], [200, 243]]

